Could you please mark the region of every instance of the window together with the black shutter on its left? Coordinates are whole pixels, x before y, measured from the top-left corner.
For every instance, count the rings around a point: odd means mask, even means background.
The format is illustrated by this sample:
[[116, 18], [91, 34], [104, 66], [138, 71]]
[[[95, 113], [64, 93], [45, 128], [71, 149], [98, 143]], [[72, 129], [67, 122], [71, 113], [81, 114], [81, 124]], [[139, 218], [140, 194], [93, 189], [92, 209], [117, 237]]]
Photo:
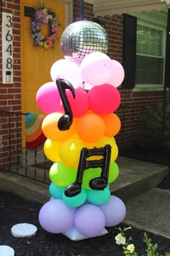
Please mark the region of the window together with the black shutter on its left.
[[[170, 9], [123, 14], [122, 66], [125, 79], [122, 88], [163, 90], [170, 88], [170, 61], [167, 61], [166, 34]], [[164, 81], [166, 60], [166, 79]]]

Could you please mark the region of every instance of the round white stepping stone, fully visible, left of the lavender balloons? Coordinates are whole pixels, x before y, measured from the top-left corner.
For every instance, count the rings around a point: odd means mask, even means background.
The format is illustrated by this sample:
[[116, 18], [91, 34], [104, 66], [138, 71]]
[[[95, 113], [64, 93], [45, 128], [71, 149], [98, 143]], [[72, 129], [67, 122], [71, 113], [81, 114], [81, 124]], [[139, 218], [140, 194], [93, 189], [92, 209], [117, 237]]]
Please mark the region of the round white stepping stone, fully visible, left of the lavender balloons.
[[29, 223], [19, 223], [12, 226], [12, 236], [29, 237], [35, 236], [37, 227]]

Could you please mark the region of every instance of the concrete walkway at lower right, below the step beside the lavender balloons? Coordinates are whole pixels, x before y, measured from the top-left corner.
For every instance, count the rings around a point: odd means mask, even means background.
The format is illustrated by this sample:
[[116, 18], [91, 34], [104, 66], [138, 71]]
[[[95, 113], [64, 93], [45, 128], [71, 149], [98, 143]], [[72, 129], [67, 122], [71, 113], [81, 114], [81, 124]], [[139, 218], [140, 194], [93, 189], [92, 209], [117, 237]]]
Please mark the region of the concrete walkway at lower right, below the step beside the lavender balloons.
[[123, 223], [170, 239], [170, 190], [154, 188], [128, 200]]

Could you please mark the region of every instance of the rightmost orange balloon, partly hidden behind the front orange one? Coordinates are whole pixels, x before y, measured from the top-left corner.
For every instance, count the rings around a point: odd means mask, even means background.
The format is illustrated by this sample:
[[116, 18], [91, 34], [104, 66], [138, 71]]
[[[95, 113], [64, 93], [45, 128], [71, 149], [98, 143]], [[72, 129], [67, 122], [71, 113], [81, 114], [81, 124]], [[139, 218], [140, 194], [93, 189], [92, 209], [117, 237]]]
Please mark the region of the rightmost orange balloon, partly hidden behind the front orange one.
[[101, 115], [104, 124], [105, 124], [105, 132], [104, 136], [106, 137], [114, 137], [120, 131], [121, 123], [119, 117], [114, 114]]

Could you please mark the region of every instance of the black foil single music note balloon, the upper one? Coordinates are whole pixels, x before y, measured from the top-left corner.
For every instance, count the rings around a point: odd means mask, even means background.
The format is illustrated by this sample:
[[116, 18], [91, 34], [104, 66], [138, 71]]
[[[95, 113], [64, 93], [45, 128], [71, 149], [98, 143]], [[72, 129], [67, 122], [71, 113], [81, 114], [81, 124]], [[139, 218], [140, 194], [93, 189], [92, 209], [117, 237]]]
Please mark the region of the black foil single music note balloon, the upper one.
[[58, 92], [61, 95], [61, 101], [63, 103], [63, 107], [65, 111], [65, 114], [63, 114], [63, 116], [61, 116], [61, 118], [58, 120], [58, 129], [60, 129], [61, 131], [66, 131], [71, 127], [71, 124], [73, 123], [73, 113], [71, 111], [71, 106], [68, 102], [66, 89], [71, 91], [73, 98], [76, 97], [76, 93], [73, 88], [73, 85], [71, 85], [70, 82], [64, 79], [58, 78], [56, 80], [56, 85], [58, 87]]

